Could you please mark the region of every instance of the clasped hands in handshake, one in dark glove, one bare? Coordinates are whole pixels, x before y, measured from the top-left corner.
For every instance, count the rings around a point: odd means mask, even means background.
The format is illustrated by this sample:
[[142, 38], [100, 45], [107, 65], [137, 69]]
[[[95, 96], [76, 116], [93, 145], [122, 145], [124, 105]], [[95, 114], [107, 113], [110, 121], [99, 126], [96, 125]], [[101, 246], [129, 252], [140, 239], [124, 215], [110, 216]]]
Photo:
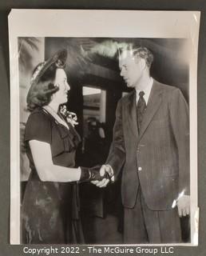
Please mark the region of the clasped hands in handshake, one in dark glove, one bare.
[[[85, 175], [88, 175], [88, 177], [85, 178]], [[113, 181], [113, 170], [111, 166], [81, 167], [80, 182], [91, 182], [98, 187], [105, 187], [111, 181]]]

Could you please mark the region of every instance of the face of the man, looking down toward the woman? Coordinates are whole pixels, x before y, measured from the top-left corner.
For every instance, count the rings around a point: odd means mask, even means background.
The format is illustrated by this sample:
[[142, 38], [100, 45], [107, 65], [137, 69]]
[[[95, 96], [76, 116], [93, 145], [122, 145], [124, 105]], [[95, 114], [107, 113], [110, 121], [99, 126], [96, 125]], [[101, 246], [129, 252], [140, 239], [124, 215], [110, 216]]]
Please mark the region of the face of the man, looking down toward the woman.
[[131, 51], [125, 50], [119, 58], [119, 66], [121, 77], [124, 78], [127, 86], [130, 88], [138, 88], [138, 83], [145, 70], [145, 60], [143, 58], [134, 57]]

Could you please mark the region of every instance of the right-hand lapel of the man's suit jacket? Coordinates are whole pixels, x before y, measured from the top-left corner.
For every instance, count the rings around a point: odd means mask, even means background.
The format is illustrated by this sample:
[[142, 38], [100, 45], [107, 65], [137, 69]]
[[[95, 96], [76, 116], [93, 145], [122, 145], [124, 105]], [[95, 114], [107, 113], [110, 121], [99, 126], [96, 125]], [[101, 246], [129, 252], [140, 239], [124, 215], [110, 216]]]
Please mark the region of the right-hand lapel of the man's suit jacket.
[[154, 114], [158, 110], [160, 103], [162, 101], [162, 90], [158, 86], [158, 83], [154, 80], [151, 93], [149, 95], [148, 106], [145, 110], [145, 114], [141, 124], [141, 131], [139, 134], [138, 142], [141, 139], [142, 135], [145, 133], [145, 130], [149, 126], [149, 123], [152, 121]]

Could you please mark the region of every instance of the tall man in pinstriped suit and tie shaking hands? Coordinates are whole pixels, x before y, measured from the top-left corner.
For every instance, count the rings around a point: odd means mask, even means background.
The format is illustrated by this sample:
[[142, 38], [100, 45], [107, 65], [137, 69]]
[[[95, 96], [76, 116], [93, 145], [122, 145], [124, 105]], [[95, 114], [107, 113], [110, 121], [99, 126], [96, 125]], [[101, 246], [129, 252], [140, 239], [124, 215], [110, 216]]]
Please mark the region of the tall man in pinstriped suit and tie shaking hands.
[[[123, 50], [121, 76], [134, 90], [117, 104], [113, 142], [101, 175], [122, 170], [125, 243], [181, 242], [189, 214], [189, 114], [180, 90], [150, 76], [153, 54]], [[109, 179], [94, 182], [107, 186]]]

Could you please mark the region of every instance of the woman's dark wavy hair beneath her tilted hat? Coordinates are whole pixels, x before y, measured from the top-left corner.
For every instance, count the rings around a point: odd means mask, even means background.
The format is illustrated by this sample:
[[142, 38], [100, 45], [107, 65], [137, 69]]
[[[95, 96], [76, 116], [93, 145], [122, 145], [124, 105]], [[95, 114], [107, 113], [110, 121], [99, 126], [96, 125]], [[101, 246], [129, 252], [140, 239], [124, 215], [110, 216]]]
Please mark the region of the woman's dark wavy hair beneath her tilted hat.
[[[43, 65], [41, 62], [36, 66], [34, 72], [37, 72], [38, 68]], [[46, 106], [50, 103], [53, 94], [59, 90], [57, 86], [54, 86], [53, 81], [56, 76], [57, 69], [60, 67], [53, 63], [42, 76], [38, 79], [38, 83], [35, 86], [30, 99], [27, 99], [27, 109], [32, 111], [39, 106]]]

